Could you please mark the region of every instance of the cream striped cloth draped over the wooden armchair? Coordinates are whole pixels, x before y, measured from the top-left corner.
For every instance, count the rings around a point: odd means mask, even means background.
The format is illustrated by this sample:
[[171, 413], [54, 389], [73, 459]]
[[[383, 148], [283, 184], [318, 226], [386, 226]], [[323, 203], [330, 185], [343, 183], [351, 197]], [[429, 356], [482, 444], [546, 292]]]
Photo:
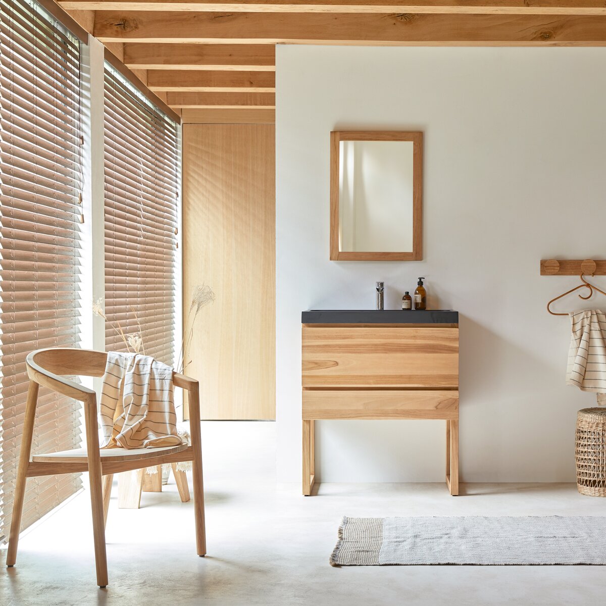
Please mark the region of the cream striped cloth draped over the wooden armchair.
[[108, 352], [100, 404], [101, 448], [181, 444], [173, 369], [150, 356]]

